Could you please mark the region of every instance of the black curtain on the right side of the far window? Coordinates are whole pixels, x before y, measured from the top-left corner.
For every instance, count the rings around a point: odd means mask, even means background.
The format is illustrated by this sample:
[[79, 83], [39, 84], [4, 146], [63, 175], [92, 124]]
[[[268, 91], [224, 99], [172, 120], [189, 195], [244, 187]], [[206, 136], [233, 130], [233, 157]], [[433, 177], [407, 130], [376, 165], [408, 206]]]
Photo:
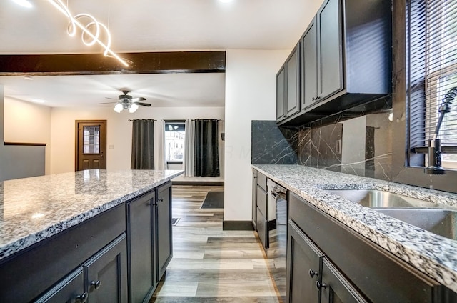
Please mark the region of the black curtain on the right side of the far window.
[[219, 176], [218, 121], [195, 120], [194, 176]]

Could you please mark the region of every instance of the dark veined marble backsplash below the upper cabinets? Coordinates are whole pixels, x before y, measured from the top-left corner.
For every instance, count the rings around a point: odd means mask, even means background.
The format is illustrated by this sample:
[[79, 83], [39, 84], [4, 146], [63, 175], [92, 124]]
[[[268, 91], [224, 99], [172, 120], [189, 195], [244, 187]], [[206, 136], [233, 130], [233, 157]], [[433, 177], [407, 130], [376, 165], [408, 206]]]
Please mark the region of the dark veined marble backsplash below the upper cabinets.
[[252, 121], [252, 164], [301, 164], [391, 180], [391, 110], [307, 127]]

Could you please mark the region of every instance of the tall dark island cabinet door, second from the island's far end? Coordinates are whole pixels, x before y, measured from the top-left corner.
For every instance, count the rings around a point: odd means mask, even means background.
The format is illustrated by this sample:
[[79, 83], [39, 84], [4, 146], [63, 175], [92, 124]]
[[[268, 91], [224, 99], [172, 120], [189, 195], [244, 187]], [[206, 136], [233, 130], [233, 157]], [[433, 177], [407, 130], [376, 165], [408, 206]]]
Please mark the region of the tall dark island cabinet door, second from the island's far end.
[[154, 288], [152, 204], [155, 192], [127, 203], [130, 302], [143, 302]]

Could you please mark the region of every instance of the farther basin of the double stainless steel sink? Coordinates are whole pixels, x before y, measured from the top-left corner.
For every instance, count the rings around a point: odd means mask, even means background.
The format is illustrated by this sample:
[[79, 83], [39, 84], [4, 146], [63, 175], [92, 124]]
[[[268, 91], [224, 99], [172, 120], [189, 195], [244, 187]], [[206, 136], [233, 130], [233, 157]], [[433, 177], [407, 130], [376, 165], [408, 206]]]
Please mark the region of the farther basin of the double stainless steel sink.
[[364, 207], [436, 207], [433, 202], [373, 189], [328, 190]]

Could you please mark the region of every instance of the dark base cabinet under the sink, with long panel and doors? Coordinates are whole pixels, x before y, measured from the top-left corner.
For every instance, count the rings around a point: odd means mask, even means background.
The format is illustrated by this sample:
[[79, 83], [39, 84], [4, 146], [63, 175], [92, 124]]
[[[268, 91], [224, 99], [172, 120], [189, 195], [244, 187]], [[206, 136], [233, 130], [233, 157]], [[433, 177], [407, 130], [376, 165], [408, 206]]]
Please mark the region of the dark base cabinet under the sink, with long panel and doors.
[[306, 259], [305, 254], [308, 258], [314, 256], [316, 249], [306, 253], [301, 248], [303, 252], [297, 253], [294, 246], [313, 244], [323, 254], [314, 276], [314, 286], [321, 292], [320, 302], [456, 302], [456, 293], [293, 193], [289, 194], [288, 227], [288, 298], [307, 302], [308, 297], [316, 296], [311, 289], [297, 294], [298, 286], [294, 284], [306, 279], [302, 272], [309, 272], [311, 277], [313, 272], [309, 270], [316, 267], [316, 261], [308, 262], [309, 268], [305, 268], [303, 262], [295, 260]]

